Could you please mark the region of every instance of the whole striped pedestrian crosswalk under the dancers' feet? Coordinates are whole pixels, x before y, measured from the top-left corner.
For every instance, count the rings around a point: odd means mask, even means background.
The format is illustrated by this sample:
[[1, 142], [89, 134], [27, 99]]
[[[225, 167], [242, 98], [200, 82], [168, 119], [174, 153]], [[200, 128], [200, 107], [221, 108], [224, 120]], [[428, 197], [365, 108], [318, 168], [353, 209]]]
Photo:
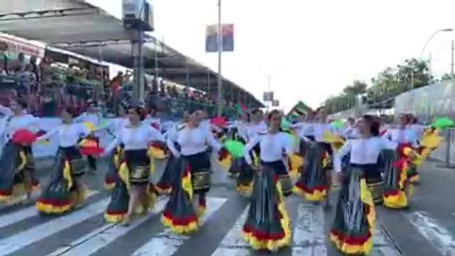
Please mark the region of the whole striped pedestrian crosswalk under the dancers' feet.
[[[242, 238], [248, 203], [237, 195], [208, 196], [202, 228], [193, 235], [176, 235], [161, 225], [167, 198], [154, 210], [124, 227], [105, 223], [103, 213], [109, 203], [105, 194], [92, 191], [87, 205], [65, 215], [38, 215], [34, 206], [2, 213], [0, 210], [0, 256], [248, 256], [258, 255]], [[287, 198], [292, 220], [292, 245], [277, 255], [339, 255], [328, 242], [334, 209], [296, 196]], [[454, 234], [427, 213], [401, 213], [415, 227], [415, 234], [429, 240], [441, 256], [455, 255]], [[374, 235], [372, 255], [400, 256], [380, 216]], [[415, 235], [412, 234], [412, 235]], [[416, 245], [418, 246], [418, 245]], [[452, 253], [452, 254], [451, 254]], [[438, 256], [438, 255], [435, 255]]]

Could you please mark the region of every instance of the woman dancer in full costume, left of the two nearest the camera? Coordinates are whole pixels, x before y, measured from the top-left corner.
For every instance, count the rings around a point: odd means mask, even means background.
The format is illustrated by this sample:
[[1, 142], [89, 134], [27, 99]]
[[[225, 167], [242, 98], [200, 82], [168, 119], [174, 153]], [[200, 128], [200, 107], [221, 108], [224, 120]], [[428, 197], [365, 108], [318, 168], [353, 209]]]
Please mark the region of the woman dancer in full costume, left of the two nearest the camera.
[[[268, 119], [268, 132], [252, 139], [245, 149], [245, 159], [256, 171], [243, 235], [255, 250], [274, 252], [291, 244], [291, 220], [278, 177], [287, 172], [283, 153], [291, 155], [293, 145], [287, 134], [279, 131], [282, 114], [273, 110]], [[247, 154], [256, 145], [261, 148], [259, 166], [255, 166], [250, 154]]]

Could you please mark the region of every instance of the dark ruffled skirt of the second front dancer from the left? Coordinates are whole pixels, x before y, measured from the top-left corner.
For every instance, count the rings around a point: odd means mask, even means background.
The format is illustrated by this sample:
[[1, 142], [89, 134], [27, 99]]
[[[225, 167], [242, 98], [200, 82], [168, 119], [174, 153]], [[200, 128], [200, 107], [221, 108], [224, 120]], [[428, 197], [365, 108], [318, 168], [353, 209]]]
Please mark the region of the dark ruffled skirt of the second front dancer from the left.
[[[60, 214], [68, 212], [77, 204], [85, 200], [87, 191], [75, 182], [85, 174], [87, 159], [81, 156], [77, 148], [68, 147], [58, 149], [57, 157], [53, 165], [50, 183], [45, 187], [36, 202], [39, 213]], [[78, 193], [78, 191], [80, 191]]]

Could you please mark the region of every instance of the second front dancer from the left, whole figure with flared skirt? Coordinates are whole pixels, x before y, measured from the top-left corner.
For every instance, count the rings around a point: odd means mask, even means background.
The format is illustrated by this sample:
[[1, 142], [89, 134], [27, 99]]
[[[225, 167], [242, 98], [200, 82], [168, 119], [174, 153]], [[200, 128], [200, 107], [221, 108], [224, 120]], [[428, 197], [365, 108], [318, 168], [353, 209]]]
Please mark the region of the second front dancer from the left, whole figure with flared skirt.
[[50, 130], [38, 140], [58, 138], [58, 151], [48, 186], [42, 191], [36, 208], [45, 214], [60, 214], [81, 206], [87, 188], [82, 183], [87, 159], [80, 154], [78, 144], [90, 134], [84, 124], [73, 122], [75, 111], [67, 107], [62, 111], [62, 124]]

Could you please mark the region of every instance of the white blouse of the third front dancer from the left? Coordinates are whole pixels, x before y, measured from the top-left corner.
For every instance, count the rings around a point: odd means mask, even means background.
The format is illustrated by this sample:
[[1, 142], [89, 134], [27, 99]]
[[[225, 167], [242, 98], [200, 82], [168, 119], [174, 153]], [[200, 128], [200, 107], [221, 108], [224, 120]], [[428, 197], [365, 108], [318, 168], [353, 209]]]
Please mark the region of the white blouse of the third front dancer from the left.
[[117, 137], [107, 146], [106, 152], [114, 150], [119, 144], [124, 144], [125, 150], [148, 149], [149, 142], [164, 142], [164, 137], [149, 124], [140, 124], [137, 127], [125, 126], [119, 129]]

